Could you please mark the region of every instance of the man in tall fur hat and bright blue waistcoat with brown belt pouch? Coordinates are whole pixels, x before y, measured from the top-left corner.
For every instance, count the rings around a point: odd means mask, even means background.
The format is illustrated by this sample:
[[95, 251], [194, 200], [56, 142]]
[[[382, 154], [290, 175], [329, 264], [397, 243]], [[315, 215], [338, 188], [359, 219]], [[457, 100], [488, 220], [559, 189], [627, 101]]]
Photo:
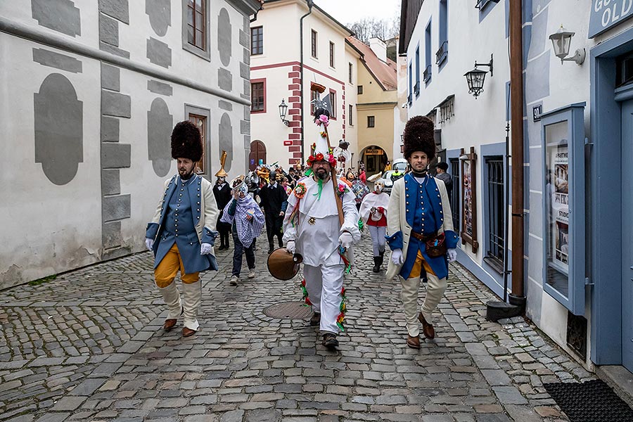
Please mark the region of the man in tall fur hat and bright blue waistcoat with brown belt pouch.
[[[456, 259], [458, 237], [444, 182], [428, 174], [435, 157], [433, 121], [411, 117], [404, 127], [404, 158], [411, 172], [393, 184], [387, 214], [387, 243], [392, 250], [387, 280], [399, 276], [407, 345], [420, 348], [418, 321], [428, 339], [435, 338], [433, 311], [446, 290], [446, 260]], [[418, 314], [421, 270], [426, 269], [426, 298]]]

